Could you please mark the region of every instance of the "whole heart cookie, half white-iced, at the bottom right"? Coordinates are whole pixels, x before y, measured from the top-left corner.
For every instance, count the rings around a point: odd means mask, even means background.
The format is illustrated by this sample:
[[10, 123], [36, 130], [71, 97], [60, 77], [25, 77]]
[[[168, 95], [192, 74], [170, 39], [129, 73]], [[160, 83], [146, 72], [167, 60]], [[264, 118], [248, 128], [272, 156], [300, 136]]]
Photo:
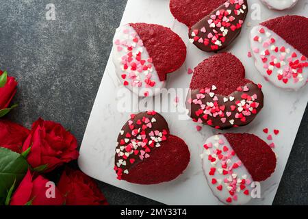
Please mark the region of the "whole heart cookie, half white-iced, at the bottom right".
[[203, 173], [213, 194], [227, 205], [251, 200], [253, 182], [264, 181], [276, 168], [276, 155], [259, 137], [224, 133], [204, 144]]

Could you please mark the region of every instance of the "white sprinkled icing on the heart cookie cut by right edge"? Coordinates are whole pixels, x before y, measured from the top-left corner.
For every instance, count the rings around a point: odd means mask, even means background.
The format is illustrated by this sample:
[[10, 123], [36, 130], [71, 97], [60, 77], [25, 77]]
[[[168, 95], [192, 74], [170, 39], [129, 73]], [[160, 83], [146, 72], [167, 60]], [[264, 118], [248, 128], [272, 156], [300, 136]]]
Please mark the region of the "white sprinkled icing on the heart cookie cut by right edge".
[[308, 79], [307, 57], [267, 27], [251, 29], [251, 53], [255, 66], [274, 86], [298, 90]]

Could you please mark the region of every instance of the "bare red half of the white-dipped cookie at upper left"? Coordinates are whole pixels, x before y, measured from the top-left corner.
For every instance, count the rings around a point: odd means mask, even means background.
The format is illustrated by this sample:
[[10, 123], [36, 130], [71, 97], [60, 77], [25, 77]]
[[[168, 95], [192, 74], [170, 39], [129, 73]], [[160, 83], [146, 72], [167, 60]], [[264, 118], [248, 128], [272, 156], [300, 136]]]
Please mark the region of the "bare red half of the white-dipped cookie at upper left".
[[185, 43], [170, 28], [146, 23], [130, 25], [140, 36], [144, 47], [152, 57], [161, 81], [166, 80], [167, 73], [174, 72], [185, 62]]

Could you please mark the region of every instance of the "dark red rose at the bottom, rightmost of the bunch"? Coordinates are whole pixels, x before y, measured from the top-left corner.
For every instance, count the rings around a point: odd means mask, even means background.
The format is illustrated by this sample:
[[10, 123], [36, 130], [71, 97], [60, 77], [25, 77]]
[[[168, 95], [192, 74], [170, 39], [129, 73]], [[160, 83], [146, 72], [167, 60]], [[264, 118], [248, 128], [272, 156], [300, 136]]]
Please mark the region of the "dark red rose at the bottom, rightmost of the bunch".
[[108, 205], [97, 184], [84, 172], [66, 168], [57, 185], [66, 205]]

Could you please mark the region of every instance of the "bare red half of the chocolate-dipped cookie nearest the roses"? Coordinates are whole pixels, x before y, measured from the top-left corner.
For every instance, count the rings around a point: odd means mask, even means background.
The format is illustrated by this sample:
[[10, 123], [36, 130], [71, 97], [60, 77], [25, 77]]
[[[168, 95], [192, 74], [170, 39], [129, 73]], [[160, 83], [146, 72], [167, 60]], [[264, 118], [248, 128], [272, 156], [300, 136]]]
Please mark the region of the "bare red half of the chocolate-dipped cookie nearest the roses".
[[190, 162], [190, 151], [181, 138], [169, 136], [161, 146], [151, 153], [122, 179], [131, 183], [156, 184], [177, 178]]

